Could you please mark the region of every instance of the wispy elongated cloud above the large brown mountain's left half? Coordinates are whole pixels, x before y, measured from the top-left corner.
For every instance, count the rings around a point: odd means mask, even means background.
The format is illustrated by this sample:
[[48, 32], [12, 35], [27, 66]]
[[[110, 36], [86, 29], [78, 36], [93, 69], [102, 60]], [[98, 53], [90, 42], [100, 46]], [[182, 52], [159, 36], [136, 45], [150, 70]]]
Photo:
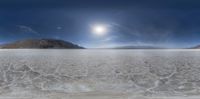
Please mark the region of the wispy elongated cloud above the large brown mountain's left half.
[[20, 32], [40, 35], [37, 31], [35, 31], [31, 27], [28, 27], [28, 26], [25, 26], [25, 25], [17, 25], [17, 27], [20, 29]]

